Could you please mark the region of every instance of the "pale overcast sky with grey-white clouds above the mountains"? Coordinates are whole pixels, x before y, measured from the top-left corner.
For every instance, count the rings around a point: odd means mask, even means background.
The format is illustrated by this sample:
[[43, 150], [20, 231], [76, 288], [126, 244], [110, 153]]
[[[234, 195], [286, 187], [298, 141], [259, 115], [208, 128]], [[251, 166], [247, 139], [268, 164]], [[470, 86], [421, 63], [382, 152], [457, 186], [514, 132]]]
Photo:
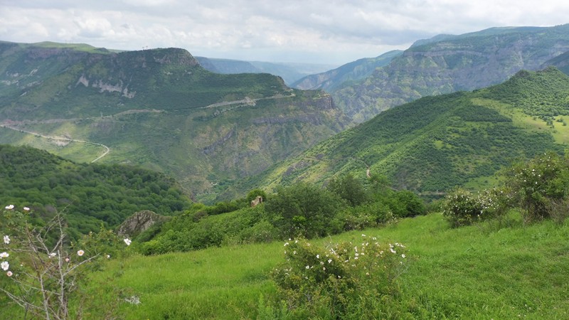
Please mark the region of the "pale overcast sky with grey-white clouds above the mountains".
[[566, 0], [0, 0], [0, 40], [341, 65], [418, 39], [569, 23]]

